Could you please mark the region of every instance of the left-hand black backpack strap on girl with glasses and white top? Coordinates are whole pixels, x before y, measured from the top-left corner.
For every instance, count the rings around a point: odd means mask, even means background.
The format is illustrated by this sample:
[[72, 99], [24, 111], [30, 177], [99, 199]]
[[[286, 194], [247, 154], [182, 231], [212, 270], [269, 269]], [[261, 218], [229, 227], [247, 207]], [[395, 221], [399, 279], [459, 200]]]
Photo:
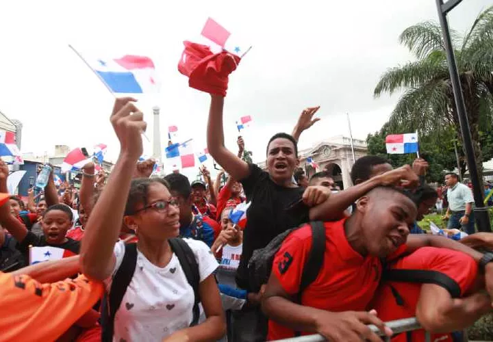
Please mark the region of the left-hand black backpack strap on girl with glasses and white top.
[[113, 340], [114, 317], [120, 307], [127, 287], [137, 265], [137, 245], [126, 244], [123, 260], [113, 277], [110, 293], [105, 293], [101, 302], [101, 341], [110, 342]]

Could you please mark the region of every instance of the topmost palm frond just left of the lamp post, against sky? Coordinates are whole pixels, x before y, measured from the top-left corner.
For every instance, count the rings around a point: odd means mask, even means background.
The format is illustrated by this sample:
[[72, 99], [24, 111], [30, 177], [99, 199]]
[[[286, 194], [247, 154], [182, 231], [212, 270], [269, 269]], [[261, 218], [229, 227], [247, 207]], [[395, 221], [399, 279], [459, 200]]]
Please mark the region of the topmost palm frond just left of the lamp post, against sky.
[[[451, 32], [451, 36], [457, 35]], [[445, 50], [440, 25], [431, 21], [407, 27], [399, 36], [399, 42], [418, 59], [426, 57], [433, 51]]]

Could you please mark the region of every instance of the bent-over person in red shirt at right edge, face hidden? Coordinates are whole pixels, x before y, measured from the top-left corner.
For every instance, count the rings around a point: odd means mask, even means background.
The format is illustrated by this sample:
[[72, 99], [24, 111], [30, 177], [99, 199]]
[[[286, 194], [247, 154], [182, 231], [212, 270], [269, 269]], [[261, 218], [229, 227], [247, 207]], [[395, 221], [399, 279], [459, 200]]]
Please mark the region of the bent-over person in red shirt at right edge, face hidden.
[[[446, 332], [462, 330], [491, 311], [486, 294], [475, 293], [462, 298], [481, 285], [484, 287], [477, 274], [476, 261], [467, 254], [424, 247], [392, 263], [390, 269], [393, 272], [406, 270], [406, 276], [413, 282], [383, 282], [370, 307], [377, 310], [383, 321], [416, 315], [422, 326], [437, 332], [431, 334], [431, 341], [453, 342], [451, 334]], [[392, 273], [388, 276], [392, 278]], [[392, 341], [425, 341], [425, 330], [403, 332]]]

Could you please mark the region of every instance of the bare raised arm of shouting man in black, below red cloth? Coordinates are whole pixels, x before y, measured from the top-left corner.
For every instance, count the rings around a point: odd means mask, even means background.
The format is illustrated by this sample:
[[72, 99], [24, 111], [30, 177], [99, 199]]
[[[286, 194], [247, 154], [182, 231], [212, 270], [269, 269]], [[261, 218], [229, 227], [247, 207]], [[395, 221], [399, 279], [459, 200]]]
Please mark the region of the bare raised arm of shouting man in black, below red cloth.
[[234, 179], [245, 179], [250, 174], [248, 164], [231, 153], [224, 143], [223, 107], [224, 97], [211, 94], [209, 121], [207, 122], [207, 149]]

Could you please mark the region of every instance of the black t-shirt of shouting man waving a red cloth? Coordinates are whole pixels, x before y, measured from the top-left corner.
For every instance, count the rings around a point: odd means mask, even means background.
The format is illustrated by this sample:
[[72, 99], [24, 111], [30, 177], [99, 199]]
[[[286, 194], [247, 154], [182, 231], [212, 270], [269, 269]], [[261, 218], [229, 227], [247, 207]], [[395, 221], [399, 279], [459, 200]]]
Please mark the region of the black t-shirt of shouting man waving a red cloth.
[[299, 206], [296, 211], [286, 210], [301, 199], [303, 187], [281, 187], [255, 164], [249, 164], [250, 175], [241, 181], [247, 200], [247, 226], [243, 233], [243, 252], [236, 273], [236, 282], [249, 289], [248, 262], [254, 250], [264, 248], [277, 235], [309, 222], [309, 208]]

